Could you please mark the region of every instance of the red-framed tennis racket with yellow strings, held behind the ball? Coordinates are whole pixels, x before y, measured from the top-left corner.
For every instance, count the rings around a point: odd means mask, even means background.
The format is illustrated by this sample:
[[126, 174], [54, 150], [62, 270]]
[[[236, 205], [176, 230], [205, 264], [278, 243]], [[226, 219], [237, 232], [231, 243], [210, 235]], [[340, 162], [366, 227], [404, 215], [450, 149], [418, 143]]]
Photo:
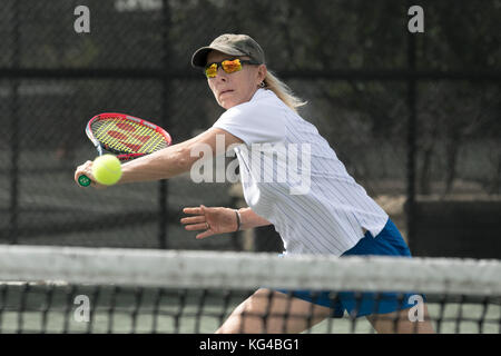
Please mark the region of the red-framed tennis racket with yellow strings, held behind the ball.
[[[99, 154], [115, 155], [128, 161], [170, 146], [170, 135], [163, 128], [130, 115], [105, 112], [91, 118], [86, 134]], [[90, 185], [86, 175], [78, 177], [82, 187]]]

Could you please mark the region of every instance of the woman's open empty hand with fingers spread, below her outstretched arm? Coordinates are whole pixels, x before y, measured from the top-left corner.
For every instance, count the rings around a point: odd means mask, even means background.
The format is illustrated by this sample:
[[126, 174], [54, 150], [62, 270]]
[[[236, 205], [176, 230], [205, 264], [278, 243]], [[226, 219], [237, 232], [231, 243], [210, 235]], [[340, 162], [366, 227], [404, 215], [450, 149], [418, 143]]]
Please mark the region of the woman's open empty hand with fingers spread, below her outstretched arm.
[[204, 230], [196, 236], [197, 239], [237, 230], [238, 225], [235, 209], [222, 207], [207, 208], [200, 205], [197, 208], [184, 208], [183, 212], [193, 215], [180, 219], [180, 222], [185, 225], [185, 229], [189, 231]]

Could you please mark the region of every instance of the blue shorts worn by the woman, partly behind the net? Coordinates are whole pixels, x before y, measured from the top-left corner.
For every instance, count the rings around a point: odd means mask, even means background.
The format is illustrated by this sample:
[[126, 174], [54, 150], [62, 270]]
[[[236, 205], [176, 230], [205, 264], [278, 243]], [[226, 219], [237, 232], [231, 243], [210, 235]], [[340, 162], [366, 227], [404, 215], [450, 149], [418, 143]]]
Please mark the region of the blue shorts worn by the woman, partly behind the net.
[[[402, 235], [391, 219], [387, 219], [383, 230], [373, 237], [370, 231], [342, 256], [405, 256], [411, 251]], [[312, 290], [278, 290], [296, 298], [333, 308], [332, 317], [343, 317], [346, 310], [352, 317], [370, 314], [386, 314], [414, 306], [409, 298], [414, 293], [354, 293], [354, 291], [312, 291]]]

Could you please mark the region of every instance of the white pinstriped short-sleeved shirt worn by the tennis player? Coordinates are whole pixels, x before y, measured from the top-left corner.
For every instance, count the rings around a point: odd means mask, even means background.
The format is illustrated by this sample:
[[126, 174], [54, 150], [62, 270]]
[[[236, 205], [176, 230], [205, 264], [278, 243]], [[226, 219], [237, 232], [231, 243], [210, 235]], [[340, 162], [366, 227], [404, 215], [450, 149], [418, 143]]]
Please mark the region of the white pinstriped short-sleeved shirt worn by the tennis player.
[[225, 111], [213, 127], [245, 144], [235, 148], [248, 206], [275, 226], [285, 254], [340, 256], [376, 236], [387, 214], [367, 196], [316, 127], [271, 90]]

